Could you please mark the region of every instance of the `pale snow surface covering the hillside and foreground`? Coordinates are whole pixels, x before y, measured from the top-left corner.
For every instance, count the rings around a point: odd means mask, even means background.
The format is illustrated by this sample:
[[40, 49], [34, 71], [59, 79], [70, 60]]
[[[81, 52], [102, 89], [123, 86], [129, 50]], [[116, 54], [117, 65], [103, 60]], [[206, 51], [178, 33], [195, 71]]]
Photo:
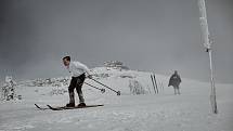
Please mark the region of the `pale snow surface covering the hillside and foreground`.
[[[159, 93], [154, 94], [150, 73], [103, 67], [93, 73], [107, 74], [109, 77], [99, 76], [98, 80], [122, 95], [108, 90], [102, 94], [85, 84], [87, 104], [104, 104], [103, 107], [39, 110], [35, 103], [43, 107], [65, 105], [68, 94], [51, 95], [54, 87], [18, 87], [22, 101], [0, 102], [0, 131], [233, 131], [232, 84], [216, 86], [219, 114], [215, 115], [209, 104], [209, 83], [182, 79], [181, 95], [174, 95], [173, 89], [167, 87], [169, 77], [156, 75]], [[132, 95], [130, 80], [138, 80], [147, 93]], [[92, 80], [86, 82], [102, 88]]]

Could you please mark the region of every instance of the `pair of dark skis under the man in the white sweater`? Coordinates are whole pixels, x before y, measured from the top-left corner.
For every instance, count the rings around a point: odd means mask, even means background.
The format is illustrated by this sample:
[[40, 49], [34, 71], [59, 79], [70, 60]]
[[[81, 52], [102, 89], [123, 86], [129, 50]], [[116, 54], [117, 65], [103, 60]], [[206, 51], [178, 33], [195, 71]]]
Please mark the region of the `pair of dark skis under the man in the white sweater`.
[[40, 107], [39, 105], [35, 104], [35, 106], [38, 109], [46, 110], [46, 109], [52, 109], [52, 110], [65, 110], [65, 109], [78, 109], [78, 108], [89, 108], [89, 107], [99, 107], [104, 105], [87, 105], [87, 106], [75, 106], [75, 107], [66, 107], [66, 106], [57, 106], [53, 107], [51, 105], [47, 105], [47, 107]]

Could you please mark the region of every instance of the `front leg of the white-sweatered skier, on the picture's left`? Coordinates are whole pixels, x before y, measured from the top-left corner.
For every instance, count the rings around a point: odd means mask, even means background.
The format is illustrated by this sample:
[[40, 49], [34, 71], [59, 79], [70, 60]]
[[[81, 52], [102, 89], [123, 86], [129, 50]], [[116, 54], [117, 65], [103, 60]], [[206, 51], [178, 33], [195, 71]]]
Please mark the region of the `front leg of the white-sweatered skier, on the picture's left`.
[[67, 106], [75, 106], [75, 92], [74, 92], [74, 89], [76, 87], [76, 83], [77, 83], [77, 78], [73, 77], [72, 81], [69, 83], [69, 87], [68, 87], [69, 104], [67, 104]]

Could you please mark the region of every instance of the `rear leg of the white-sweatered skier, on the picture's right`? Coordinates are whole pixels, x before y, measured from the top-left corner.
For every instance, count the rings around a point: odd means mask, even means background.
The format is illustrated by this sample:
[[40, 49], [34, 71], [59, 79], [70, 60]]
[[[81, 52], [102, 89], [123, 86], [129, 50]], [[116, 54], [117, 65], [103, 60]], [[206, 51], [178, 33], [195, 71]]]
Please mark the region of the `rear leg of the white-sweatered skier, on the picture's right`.
[[79, 97], [79, 103], [82, 105], [85, 104], [85, 97], [83, 97], [81, 88], [85, 82], [85, 78], [86, 78], [85, 74], [79, 76], [78, 81], [77, 81], [77, 87], [76, 87], [76, 91], [77, 91], [78, 97]]

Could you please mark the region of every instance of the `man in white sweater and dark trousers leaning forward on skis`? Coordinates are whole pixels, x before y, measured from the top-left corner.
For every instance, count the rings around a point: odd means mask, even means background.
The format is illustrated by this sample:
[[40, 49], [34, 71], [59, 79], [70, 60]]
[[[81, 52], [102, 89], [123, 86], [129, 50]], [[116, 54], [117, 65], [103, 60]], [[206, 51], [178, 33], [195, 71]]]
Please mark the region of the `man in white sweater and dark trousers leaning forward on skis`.
[[86, 106], [81, 87], [85, 82], [86, 76], [88, 76], [88, 78], [92, 78], [92, 76], [90, 75], [89, 68], [80, 62], [70, 61], [70, 56], [63, 57], [63, 64], [72, 74], [72, 81], [68, 87], [69, 103], [66, 104], [66, 107], [75, 107], [75, 93], [74, 93], [75, 89], [79, 96], [78, 106]]

